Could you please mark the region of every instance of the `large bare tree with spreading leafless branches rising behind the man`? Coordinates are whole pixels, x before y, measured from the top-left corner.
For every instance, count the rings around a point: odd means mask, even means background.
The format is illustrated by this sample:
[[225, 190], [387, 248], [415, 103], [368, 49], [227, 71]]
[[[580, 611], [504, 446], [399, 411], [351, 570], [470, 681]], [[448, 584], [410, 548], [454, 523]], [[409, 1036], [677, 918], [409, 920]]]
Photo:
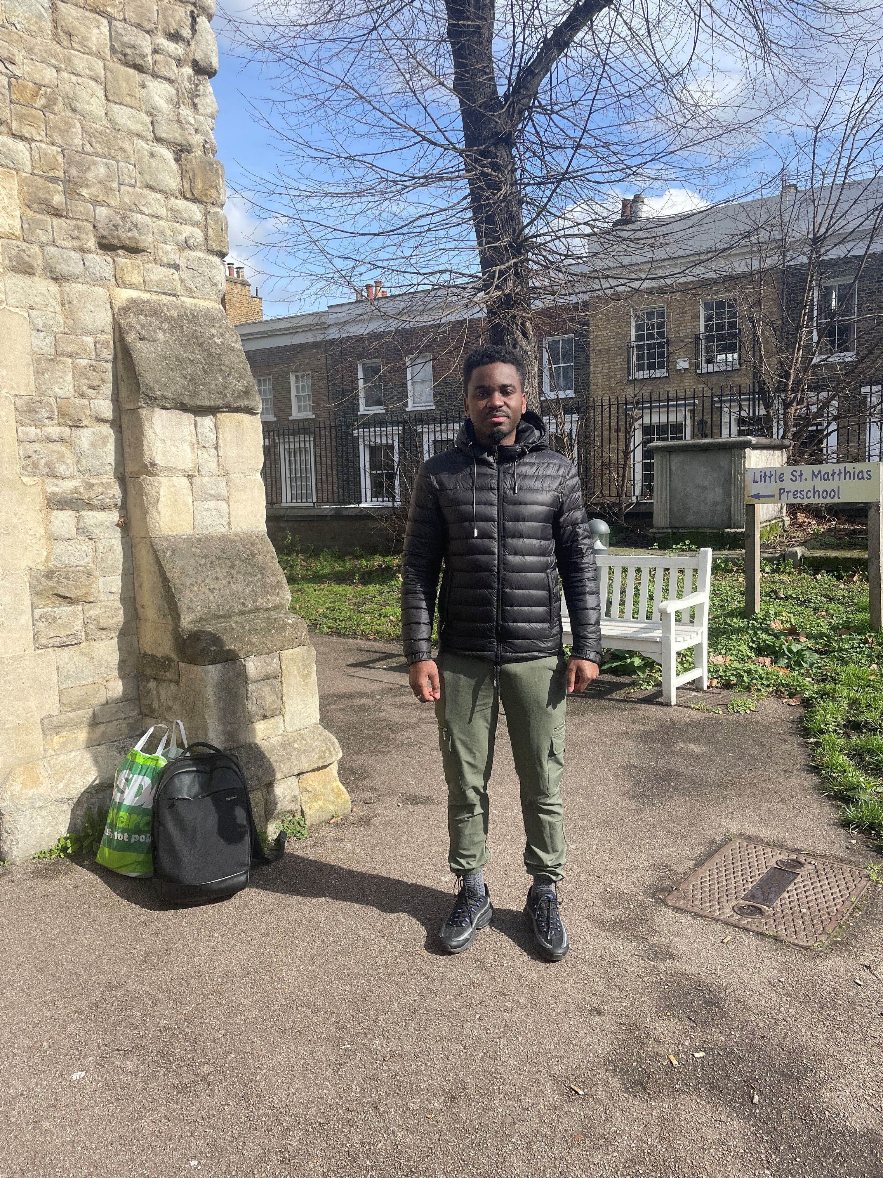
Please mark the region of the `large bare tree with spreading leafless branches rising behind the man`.
[[721, 179], [834, 34], [867, 34], [870, 15], [828, 0], [264, 0], [230, 25], [277, 79], [258, 117], [279, 166], [253, 197], [285, 264], [339, 292], [370, 265], [479, 306], [490, 339], [524, 355], [536, 408], [535, 310], [571, 297], [611, 187]]

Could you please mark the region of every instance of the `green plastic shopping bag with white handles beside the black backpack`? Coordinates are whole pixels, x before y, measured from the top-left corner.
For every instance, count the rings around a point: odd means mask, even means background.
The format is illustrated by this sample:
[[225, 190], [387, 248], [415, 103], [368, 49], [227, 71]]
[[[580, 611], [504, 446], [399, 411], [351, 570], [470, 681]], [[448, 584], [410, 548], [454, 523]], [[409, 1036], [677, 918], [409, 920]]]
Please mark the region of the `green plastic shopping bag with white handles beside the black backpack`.
[[[181, 729], [182, 744], [178, 748]], [[145, 753], [151, 735], [160, 728], [164, 733], [155, 752]], [[172, 747], [165, 754], [168, 728], [154, 724], [148, 728], [117, 769], [113, 779], [113, 798], [107, 812], [107, 825], [101, 836], [95, 861], [120, 875], [135, 878], [153, 875], [151, 855], [151, 827], [153, 825], [153, 795], [157, 792], [162, 768], [187, 747], [184, 724], [175, 720], [172, 724]]]

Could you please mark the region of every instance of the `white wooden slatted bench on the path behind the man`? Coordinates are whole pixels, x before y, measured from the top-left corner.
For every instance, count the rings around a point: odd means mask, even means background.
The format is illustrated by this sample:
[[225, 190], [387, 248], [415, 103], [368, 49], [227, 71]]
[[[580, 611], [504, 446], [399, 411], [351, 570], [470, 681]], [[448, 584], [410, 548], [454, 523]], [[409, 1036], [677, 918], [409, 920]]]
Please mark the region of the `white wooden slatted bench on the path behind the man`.
[[[709, 686], [711, 549], [701, 548], [698, 556], [596, 552], [595, 558], [600, 585], [603, 646], [613, 650], [637, 650], [662, 663], [663, 703], [673, 707], [677, 689], [693, 679], [702, 681], [704, 691]], [[564, 601], [562, 626], [565, 644], [572, 642]], [[676, 655], [690, 647], [696, 649], [696, 666], [678, 675]]]

